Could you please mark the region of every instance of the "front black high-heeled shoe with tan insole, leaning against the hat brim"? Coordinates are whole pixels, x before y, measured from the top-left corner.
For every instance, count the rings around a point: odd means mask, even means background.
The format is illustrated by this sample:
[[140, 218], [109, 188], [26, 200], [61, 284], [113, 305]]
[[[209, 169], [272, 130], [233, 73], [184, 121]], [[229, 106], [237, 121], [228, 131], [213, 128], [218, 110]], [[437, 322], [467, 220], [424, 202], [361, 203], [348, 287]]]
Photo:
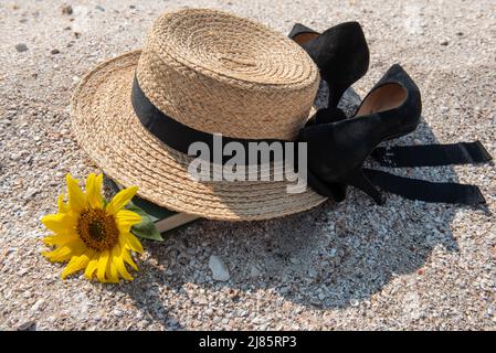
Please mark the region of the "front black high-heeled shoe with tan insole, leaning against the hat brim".
[[400, 65], [391, 66], [353, 117], [337, 122], [317, 117], [300, 130], [298, 141], [307, 142], [308, 183], [328, 196], [336, 194], [337, 184], [352, 185], [383, 204], [383, 195], [363, 174], [363, 161], [381, 141], [415, 130], [421, 111], [415, 83]]

